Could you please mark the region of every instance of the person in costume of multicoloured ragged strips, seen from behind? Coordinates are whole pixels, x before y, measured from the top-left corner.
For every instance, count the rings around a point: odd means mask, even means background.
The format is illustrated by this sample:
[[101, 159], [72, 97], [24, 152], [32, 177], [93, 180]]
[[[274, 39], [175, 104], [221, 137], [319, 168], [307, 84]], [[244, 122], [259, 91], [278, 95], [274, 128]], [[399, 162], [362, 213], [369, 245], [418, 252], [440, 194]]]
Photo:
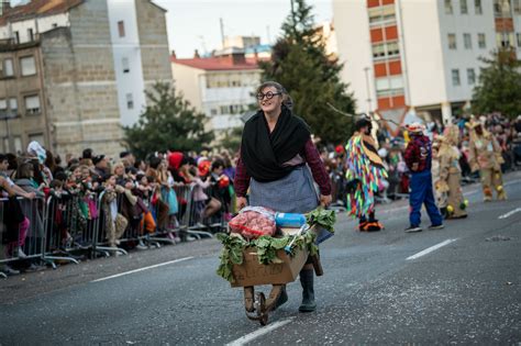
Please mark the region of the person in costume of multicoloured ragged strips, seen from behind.
[[387, 171], [370, 131], [370, 119], [357, 120], [355, 133], [345, 146], [348, 214], [358, 217], [358, 230], [363, 232], [384, 228], [375, 219], [375, 194], [383, 188]]

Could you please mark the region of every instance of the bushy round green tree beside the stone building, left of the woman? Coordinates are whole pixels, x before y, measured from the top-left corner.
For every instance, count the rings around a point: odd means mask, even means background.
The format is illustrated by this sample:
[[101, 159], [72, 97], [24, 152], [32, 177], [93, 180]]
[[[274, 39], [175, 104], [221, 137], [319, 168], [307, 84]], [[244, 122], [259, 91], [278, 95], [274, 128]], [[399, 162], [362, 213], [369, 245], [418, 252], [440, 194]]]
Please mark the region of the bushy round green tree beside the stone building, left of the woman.
[[146, 97], [148, 105], [140, 120], [124, 127], [125, 142], [136, 156], [166, 149], [201, 150], [213, 141], [213, 133], [204, 131], [204, 114], [169, 83], [157, 82]]

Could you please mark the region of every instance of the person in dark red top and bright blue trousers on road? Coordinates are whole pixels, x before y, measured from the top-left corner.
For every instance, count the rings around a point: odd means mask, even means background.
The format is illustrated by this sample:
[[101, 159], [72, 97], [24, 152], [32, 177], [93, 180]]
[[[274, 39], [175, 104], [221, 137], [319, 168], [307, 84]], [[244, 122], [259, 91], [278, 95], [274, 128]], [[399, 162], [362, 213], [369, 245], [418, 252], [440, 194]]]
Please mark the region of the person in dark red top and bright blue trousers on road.
[[409, 183], [409, 222], [410, 226], [404, 231], [421, 232], [421, 207], [425, 204], [426, 213], [431, 219], [429, 230], [443, 228], [443, 217], [434, 201], [434, 192], [432, 189], [432, 147], [431, 141], [423, 134], [424, 126], [413, 123], [407, 126], [411, 141], [406, 148], [406, 164], [411, 172]]

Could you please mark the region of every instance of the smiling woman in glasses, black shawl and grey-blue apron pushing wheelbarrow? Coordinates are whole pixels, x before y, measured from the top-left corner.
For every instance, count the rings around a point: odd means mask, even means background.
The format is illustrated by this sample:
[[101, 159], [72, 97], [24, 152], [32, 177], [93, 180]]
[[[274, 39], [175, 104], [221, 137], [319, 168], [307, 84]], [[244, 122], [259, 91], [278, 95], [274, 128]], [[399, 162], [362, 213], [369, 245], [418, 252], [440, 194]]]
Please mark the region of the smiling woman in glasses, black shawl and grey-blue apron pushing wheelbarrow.
[[[260, 110], [244, 125], [235, 175], [237, 209], [250, 204], [278, 212], [306, 213], [319, 201], [331, 203], [331, 183], [306, 122], [291, 112], [291, 99], [281, 85], [267, 81], [257, 88]], [[320, 199], [313, 186], [320, 188]], [[313, 266], [300, 271], [301, 312], [315, 310]], [[246, 297], [247, 298], [247, 297]], [[282, 292], [278, 305], [287, 301]], [[247, 303], [247, 302], [246, 302]]]

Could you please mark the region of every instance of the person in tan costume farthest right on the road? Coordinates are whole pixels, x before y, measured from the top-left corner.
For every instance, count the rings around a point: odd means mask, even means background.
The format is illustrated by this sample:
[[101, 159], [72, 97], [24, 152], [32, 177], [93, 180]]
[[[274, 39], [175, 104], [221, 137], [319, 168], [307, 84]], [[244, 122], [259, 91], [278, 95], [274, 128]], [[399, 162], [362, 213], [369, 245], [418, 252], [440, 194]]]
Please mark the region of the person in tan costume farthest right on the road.
[[501, 164], [505, 160], [498, 141], [479, 122], [472, 121], [468, 126], [470, 135], [468, 163], [473, 172], [479, 170], [484, 201], [492, 200], [492, 188], [497, 192], [498, 200], [506, 200], [501, 174]]

